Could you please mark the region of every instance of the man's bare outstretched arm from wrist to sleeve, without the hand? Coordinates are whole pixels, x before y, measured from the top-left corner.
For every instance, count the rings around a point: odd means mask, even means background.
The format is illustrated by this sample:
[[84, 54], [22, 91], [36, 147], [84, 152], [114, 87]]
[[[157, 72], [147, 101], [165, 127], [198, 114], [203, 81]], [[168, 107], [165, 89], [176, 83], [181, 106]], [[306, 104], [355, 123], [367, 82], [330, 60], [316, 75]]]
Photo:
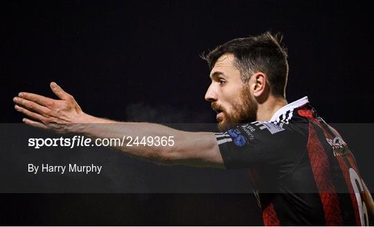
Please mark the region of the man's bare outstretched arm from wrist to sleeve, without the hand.
[[[130, 156], [168, 165], [223, 168], [217, 140], [212, 132], [190, 132], [172, 129], [163, 125], [146, 122], [117, 122], [84, 114], [83, 124], [74, 124], [69, 131], [84, 134], [90, 138], [114, 138], [124, 140], [120, 146], [113, 146]], [[172, 143], [127, 146], [129, 138], [169, 138]], [[171, 141], [170, 141], [171, 142]]]

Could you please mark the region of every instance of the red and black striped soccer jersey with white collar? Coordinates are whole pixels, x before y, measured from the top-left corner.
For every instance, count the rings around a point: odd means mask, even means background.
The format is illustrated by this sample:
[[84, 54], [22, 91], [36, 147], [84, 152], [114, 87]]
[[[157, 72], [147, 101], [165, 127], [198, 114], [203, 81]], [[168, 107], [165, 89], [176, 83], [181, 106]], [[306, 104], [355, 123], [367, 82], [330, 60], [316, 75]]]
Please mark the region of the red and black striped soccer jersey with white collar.
[[368, 225], [355, 158], [307, 97], [215, 136], [225, 167], [248, 170], [265, 226]]

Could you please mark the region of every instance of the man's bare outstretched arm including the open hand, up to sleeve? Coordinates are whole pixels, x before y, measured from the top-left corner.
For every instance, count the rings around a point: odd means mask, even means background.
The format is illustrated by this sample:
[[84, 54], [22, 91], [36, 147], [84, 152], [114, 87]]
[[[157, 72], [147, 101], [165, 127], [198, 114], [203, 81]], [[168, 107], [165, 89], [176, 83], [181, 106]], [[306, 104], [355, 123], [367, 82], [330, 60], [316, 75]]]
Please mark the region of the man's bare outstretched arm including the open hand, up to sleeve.
[[139, 138], [152, 136], [172, 137], [173, 145], [167, 146], [114, 146], [130, 156], [145, 158], [158, 163], [206, 167], [224, 167], [217, 140], [211, 132], [189, 132], [163, 125], [143, 122], [116, 122], [85, 114], [73, 96], [54, 82], [51, 89], [60, 100], [33, 93], [21, 92], [15, 97], [15, 109], [28, 118], [27, 125], [50, 129], [60, 133], [84, 134], [91, 138]]

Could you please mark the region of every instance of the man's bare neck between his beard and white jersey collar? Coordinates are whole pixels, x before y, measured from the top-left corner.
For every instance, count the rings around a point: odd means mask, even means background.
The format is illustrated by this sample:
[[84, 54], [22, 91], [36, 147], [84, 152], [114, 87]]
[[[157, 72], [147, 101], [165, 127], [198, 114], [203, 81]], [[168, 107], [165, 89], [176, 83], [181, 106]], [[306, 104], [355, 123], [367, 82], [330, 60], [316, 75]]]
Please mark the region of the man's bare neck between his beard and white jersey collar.
[[258, 104], [257, 109], [257, 120], [258, 121], [269, 121], [271, 117], [278, 111], [287, 105], [287, 101], [283, 98], [269, 97], [266, 102]]

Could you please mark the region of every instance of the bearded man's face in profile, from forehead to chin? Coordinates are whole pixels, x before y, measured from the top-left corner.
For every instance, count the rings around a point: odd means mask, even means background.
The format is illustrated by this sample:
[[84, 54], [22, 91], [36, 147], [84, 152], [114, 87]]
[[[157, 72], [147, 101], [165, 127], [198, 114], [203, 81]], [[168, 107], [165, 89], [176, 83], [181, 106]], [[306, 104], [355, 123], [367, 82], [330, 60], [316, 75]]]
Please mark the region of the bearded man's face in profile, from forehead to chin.
[[[241, 73], [233, 64], [232, 54], [222, 55], [211, 70], [211, 85], [205, 100], [217, 112], [220, 131], [226, 131], [236, 124], [253, 122], [257, 116], [257, 101], [251, 93], [251, 78], [243, 82]], [[252, 86], [253, 88], [253, 86]]]

